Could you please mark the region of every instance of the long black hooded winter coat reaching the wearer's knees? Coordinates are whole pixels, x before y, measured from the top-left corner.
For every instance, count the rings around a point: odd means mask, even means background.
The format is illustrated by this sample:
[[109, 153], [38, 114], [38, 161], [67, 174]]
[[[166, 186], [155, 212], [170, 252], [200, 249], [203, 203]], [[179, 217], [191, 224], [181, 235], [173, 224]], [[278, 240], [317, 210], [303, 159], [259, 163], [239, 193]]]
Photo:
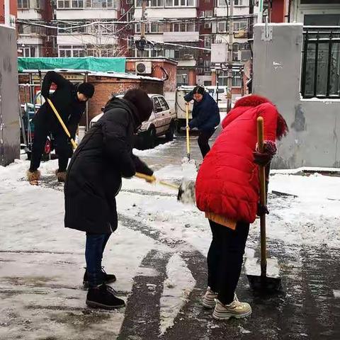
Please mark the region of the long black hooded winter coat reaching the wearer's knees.
[[65, 227], [96, 234], [117, 228], [115, 196], [122, 177], [132, 177], [136, 171], [153, 174], [132, 154], [133, 135], [140, 123], [132, 103], [113, 98], [86, 133], [67, 170]]

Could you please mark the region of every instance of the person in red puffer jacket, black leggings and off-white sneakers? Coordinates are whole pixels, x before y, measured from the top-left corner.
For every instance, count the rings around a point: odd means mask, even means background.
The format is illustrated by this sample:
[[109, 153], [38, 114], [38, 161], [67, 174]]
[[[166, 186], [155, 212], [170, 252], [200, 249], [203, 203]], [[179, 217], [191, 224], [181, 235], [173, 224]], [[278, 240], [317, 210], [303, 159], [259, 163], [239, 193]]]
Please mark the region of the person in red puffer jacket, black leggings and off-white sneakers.
[[[259, 116], [264, 123], [263, 153], [256, 149]], [[203, 306], [215, 307], [215, 319], [251, 314], [250, 305], [239, 302], [235, 290], [249, 225], [256, 214], [268, 213], [266, 207], [259, 205], [259, 165], [266, 166], [268, 180], [276, 140], [288, 132], [276, 106], [256, 95], [239, 99], [223, 120], [222, 128], [196, 179], [196, 204], [205, 212], [212, 230]]]

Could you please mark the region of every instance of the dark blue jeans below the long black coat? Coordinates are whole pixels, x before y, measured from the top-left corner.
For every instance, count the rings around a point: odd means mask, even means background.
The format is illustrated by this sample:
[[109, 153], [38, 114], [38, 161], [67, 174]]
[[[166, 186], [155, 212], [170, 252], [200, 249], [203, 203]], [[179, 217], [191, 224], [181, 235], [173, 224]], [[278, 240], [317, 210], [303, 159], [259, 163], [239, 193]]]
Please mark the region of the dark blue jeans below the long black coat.
[[92, 234], [86, 232], [86, 271], [89, 279], [89, 286], [96, 287], [104, 282], [101, 260], [108, 239], [111, 234]]

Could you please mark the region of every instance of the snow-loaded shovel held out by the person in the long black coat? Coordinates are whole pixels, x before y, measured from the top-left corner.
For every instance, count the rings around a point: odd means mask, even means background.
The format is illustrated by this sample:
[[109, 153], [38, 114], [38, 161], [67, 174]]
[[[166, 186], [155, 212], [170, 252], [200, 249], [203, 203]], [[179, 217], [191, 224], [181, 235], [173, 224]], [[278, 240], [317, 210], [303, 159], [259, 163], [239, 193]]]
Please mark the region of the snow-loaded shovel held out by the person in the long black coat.
[[[135, 176], [139, 179], [145, 179], [146, 181], [149, 181], [149, 182], [155, 181], [154, 176], [147, 176], [145, 174], [140, 174], [139, 172], [136, 172]], [[177, 200], [181, 201], [181, 203], [185, 203], [185, 204], [196, 203], [195, 183], [193, 181], [183, 180], [180, 186], [177, 186], [174, 183], [159, 181], [159, 179], [156, 179], [155, 182], [158, 184], [161, 184], [162, 186], [167, 186], [169, 188], [173, 188], [176, 191], [178, 191]]]

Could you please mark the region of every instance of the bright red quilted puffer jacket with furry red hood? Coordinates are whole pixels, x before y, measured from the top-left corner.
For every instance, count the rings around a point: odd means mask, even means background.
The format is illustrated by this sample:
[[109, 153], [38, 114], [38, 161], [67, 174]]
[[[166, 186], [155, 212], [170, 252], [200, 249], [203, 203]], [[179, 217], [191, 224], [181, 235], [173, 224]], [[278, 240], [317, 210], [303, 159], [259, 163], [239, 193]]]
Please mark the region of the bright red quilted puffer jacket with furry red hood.
[[254, 222], [259, 176], [253, 152], [259, 116], [263, 117], [264, 140], [275, 142], [285, 134], [285, 120], [268, 99], [255, 95], [239, 99], [223, 120], [223, 130], [198, 171], [196, 203], [200, 210]]

